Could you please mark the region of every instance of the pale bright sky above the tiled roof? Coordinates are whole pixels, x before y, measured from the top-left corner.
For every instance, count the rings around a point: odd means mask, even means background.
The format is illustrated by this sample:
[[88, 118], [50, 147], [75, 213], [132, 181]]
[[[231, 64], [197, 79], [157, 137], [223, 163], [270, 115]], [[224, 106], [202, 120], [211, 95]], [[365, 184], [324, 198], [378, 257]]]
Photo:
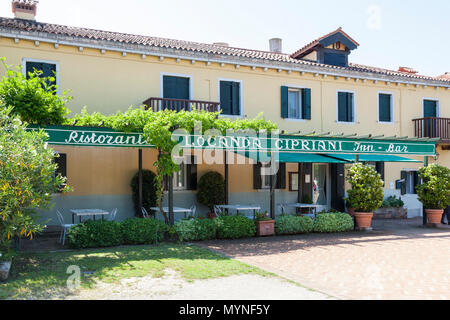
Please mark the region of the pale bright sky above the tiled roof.
[[350, 62], [450, 72], [450, 0], [40, 0], [36, 20], [256, 50], [282, 38], [285, 53], [342, 27], [360, 44]]

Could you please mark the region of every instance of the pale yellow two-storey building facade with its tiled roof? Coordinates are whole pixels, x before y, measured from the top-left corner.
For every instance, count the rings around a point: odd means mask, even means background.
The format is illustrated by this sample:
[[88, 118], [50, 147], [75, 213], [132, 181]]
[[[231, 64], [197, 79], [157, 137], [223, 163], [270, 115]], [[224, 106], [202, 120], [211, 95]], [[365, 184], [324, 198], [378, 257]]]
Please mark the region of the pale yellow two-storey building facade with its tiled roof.
[[[33, 20], [0, 18], [0, 56], [6, 57], [8, 64], [23, 66], [24, 72], [27, 63], [54, 66], [59, 89], [70, 90], [74, 97], [67, 106], [71, 115], [85, 106], [89, 112], [113, 114], [129, 106], [140, 106], [149, 98], [164, 98], [164, 77], [185, 79], [187, 100], [217, 103], [221, 102], [221, 82], [235, 83], [238, 98], [233, 103], [238, 112], [228, 115], [231, 118], [254, 118], [263, 113], [265, 119], [277, 123], [286, 133], [440, 137], [439, 156], [430, 158], [430, 163], [450, 166], [450, 137], [440, 136], [441, 132], [448, 134], [443, 126], [450, 123], [450, 79], [348, 63], [344, 60], [357, 43], [341, 29], [302, 48], [295, 58], [295, 55], [280, 52], [236, 49], [223, 44], [139, 37], [133, 42], [127, 35], [99, 33], [50, 24], [42, 27]], [[335, 51], [347, 55], [335, 57]], [[328, 64], [325, 63], [327, 54]], [[325, 60], [320, 60], [321, 56]], [[297, 97], [298, 90], [310, 90], [310, 119], [298, 115], [290, 117], [290, 110], [288, 116], [283, 117], [283, 87], [289, 88], [288, 94], [292, 92], [292, 97]], [[340, 99], [344, 93], [349, 94], [347, 99], [351, 97], [348, 106], [352, 110], [347, 109], [350, 121], [340, 121]], [[390, 121], [380, 121], [380, 97], [390, 101], [387, 115]], [[420, 121], [413, 120], [427, 115], [424, 112], [429, 109], [424, 111], [424, 108], [428, 108], [428, 101], [435, 108], [434, 118], [447, 121], [433, 120], [441, 122], [434, 129], [418, 131], [415, 123]], [[289, 103], [294, 113], [303, 112], [299, 106], [304, 108], [304, 101]], [[348, 116], [348, 113], [343, 115]], [[133, 216], [130, 181], [137, 171], [137, 149], [55, 146], [55, 150], [66, 154], [68, 183], [74, 188], [68, 195], [56, 196], [55, 208], [62, 208], [69, 215], [69, 208], [118, 207], [120, 219]], [[144, 169], [154, 170], [156, 157], [155, 150], [145, 149]], [[413, 158], [423, 161], [423, 157]], [[409, 217], [421, 215], [421, 204], [413, 187], [404, 188], [405, 192], [397, 189], [396, 182], [405, 177], [402, 172], [406, 172], [408, 181], [413, 179], [409, 173], [420, 166], [423, 163], [384, 164], [385, 194], [402, 195]], [[255, 189], [252, 167], [252, 164], [230, 166], [230, 202], [258, 203], [267, 209], [267, 190]], [[224, 174], [224, 167], [199, 164], [197, 179], [208, 171]], [[297, 164], [286, 164], [285, 183], [277, 190], [277, 202], [297, 202], [297, 191], [291, 186], [297, 171]], [[330, 166], [312, 164], [310, 171], [309, 179], [320, 180], [320, 186], [314, 188], [322, 189], [323, 193], [319, 200], [313, 190], [313, 200], [319, 201], [324, 209], [330, 208]], [[175, 205], [198, 206], [195, 193], [181, 186], [175, 191]], [[199, 211], [205, 213], [206, 208], [199, 206]], [[51, 216], [52, 213], [44, 215]]]

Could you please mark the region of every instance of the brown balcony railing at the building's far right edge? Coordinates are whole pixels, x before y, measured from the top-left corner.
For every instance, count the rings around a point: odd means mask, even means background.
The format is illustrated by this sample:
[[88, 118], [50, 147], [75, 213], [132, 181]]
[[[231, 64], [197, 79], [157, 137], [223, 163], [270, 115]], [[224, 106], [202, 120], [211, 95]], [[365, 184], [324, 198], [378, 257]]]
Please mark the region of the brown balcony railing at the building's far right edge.
[[450, 118], [414, 119], [415, 136], [419, 138], [440, 138], [442, 143], [450, 143]]

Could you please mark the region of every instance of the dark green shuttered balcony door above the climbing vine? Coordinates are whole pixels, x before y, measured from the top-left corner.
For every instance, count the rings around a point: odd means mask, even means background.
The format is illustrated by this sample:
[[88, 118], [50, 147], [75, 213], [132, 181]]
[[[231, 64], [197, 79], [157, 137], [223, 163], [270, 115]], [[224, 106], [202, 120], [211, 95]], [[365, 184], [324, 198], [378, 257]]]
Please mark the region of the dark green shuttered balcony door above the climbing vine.
[[189, 103], [185, 100], [190, 99], [189, 86], [190, 79], [175, 76], [163, 76], [163, 98], [181, 99], [183, 101], [169, 100], [163, 104], [163, 109], [170, 110], [190, 110]]

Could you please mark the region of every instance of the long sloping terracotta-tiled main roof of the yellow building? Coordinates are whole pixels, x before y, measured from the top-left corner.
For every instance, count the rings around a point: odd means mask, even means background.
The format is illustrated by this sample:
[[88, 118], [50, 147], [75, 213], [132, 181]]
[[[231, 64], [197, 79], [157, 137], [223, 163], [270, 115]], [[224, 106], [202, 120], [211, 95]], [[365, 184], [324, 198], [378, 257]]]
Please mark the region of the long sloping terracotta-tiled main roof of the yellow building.
[[[340, 29], [337, 29], [337, 32]], [[343, 32], [341, 30], [341, 32]], [[330, 33], [324, 37], [330, 36]], [[349, 67], [338, 67], [320, 64], [308, 60], [294, 59], [286, 53], [275, 53], [270, 51], [252, 50], [244, 48], [227, 47], [214, 44], [206, 44], [184, 40], [174, 40], [145, 35], [135, 35], [128, 33], [103, 31], [96, 29], [71, 27], [51, 23], [42, 23], [33, 20], [13, 19], [0, 17], [0, 35], [10, 37], [28, 37], [33, 39], [43, 39], [51, 42], [69, 42], [82, 46], [84, 43], [96, 45], [98, 47], [113, 47], [115, 50], [133, 50], [138, 48], [144, 50], [142, 53], [159, 50], [161, 54], [165, 51], [175, 52], [178, 55], [189, 55], [192, 59], [200, 55], [205, 55], [208, 59], [227, 58], [233, 63], [247, 62], [251, 64], [277, 64], [280, 67], [311, 67], [318, 72], [363, 72], [380, 76], [398, 76], [406, 79], [438, 81], [439, 83], [450, 83], [450, 79], [437, 79], [418, 74], [408, 74], [376, 67], [363, 66], [359, 64], [349, 64]], [[321, 38], [324, 38], [321, 37]], [[350, 38], [350, 37], [349, 37]], [[320, 39], [320, 38], [319, 38]], [[351, 38], [350, 38], [351, 39]], [[354, 40], [352, 40], [354, 41]], [[355, 44], [357, 44], [355, 42]]]

